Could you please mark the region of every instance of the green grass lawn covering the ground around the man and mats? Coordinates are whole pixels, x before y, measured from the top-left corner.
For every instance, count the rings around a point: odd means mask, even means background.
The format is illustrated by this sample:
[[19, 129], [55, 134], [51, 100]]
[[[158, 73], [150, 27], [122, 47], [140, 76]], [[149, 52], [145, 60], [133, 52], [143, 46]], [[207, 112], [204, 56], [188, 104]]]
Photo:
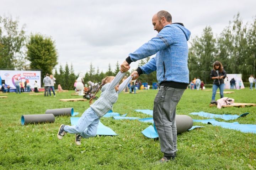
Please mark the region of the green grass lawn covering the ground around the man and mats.
[[[234, 98], [235, 102], [256, 103], [256, 90], [233, 91], [235, 93], [224, 96]], [[128, 113], [130, 117], [148, 117], [134, 109], [153, 109], [157, 92], [120, 94], [113, 111]], [[57, 93], [56, 97], [11, 93], [6, 95], [8, 98], [0, 98], [0, 169], [256, 169], [256, 134], [213, 125], [194, 123], [205, 127], [178, 135], [177, 157], [175, 161], [165, 164], [155, 164], [162, 158], [159, 140], [145, 138], [141, 133], [149, 123], [102, 118], [102, 123], [118, 136], [83, 139], [81, 146], [75, 145], [74, 135], [68, 134], [63, 140], [57, 138], [60, 124], [70, 124], [69, 117], [56, 117], [55, 123], [51, 124], [21, 125], [21, 115], [44, 114], [47, 109], [53, 108], [73, 107], [80, 116], [89, 107], [89, 101], [59, 101], [62, 98], [81, 98], [71, 96], [71, 93], [73, 91]], [[178, 103], [177, 114], [250, 112], [245, 118], [228, 122], [256, 124], [256, 107], [209, 107], [211, 95], [212, 91], [185, 90]], [[216, 99], [219, 97], [217, 94]]]

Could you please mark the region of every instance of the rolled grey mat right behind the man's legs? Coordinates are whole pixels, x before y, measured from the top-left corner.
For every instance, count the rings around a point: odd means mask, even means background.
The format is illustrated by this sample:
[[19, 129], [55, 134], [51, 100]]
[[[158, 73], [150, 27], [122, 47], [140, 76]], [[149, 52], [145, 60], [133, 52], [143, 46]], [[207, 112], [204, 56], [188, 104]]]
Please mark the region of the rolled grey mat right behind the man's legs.
[[193, 126], [193, 119], [187, 115], [176, 115], [177, 134], [187, 131]]

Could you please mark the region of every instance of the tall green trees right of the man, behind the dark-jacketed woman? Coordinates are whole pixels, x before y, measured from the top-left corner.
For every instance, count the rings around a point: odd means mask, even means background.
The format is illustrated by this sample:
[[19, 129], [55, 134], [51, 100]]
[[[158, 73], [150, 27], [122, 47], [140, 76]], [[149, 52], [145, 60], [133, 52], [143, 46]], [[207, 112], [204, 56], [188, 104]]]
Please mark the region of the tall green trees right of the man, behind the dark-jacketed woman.
[[207, 26], [201, 36], [191, 41], [188, 55], [190, 80], [200, 77], [206, 83], [213, 63], [218, 60], [226, 73], [242, 74], [242, 80], [248, 81], [256, 72], [256, 17], [252, 23], [244, 24], [240, 14], [234, 16], [223, 31], [214, 36], [212, 28]]

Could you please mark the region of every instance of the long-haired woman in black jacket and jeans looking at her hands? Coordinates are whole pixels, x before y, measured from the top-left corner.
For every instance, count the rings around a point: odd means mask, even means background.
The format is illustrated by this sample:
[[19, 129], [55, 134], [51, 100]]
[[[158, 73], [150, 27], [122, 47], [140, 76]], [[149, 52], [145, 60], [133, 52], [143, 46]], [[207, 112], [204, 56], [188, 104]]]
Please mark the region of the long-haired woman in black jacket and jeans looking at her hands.
[[215, 95], [216, 91], [219, 87], [220, 89], [220, 98], [224, 97], [223, 91], [224, 91], [224, 79], [226, 77], [226, 72], [222, 66], [222, 63], [219, 61], [215, 61], [213, 63], [213, 69], [211, 70], [210, 73], [210, 78], [213, 79], [213, 94], [212, 94], [212, 101], [210, 103], [217, 103], [215, 101]]

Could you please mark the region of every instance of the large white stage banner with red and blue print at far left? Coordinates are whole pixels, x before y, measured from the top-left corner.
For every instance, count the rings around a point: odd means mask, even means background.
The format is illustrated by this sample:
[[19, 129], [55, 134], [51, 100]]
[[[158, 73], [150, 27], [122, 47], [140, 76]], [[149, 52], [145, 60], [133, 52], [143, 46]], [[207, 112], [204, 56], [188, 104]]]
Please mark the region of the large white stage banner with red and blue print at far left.
[[21, 81], [23, 87], [25, 86], [25, 81], [27, 81], [31, 89], [34, 89], [35, 81], [37, 81], [38, 89], [41, 87], [41, 71], [0, 70], [1, 86], [3, 83], [5, 88], [10, 85], [10, 91], [16, 91], [15, 80], [17, 78]]

